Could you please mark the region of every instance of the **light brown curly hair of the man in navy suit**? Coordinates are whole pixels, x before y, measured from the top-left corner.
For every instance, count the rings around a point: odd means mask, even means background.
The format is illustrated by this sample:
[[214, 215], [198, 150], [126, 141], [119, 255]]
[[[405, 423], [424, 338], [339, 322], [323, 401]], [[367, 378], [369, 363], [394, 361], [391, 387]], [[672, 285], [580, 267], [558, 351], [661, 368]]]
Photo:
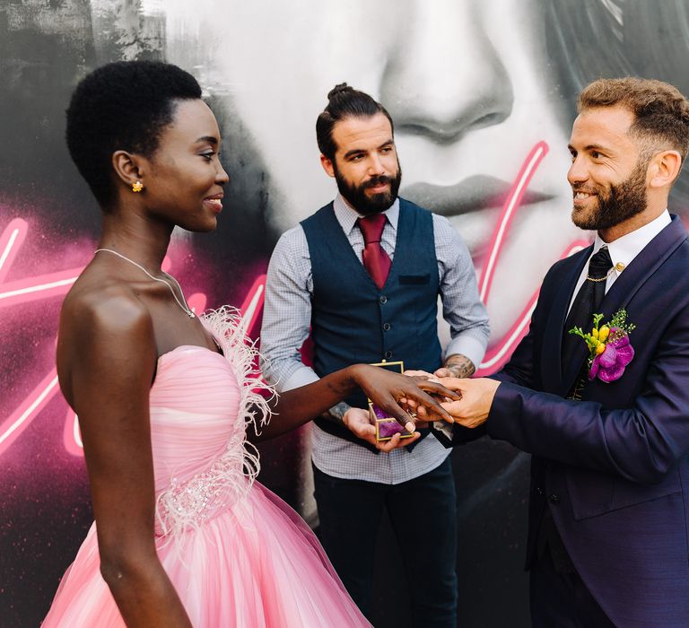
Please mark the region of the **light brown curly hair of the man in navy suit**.
[[674, 85], [636, 76], [602, 78], [580, 93], [577, 111], [621, 105], [634, 115], [630, 133], [653, 150], [689, 151], [689, 100]]

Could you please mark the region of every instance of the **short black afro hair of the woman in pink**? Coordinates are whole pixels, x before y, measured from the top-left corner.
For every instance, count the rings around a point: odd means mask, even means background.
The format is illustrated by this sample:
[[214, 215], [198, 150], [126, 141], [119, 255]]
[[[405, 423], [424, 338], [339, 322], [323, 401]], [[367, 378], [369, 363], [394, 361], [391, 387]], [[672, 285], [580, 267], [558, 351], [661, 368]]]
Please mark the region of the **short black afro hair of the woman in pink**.
[[67, 109], [67, 147], [104, 211], [115, 200], [112, 153], [151, 157], [177, 101], [200, 98], [191, 74], [159, 61], [102, 65], [76, 86]]

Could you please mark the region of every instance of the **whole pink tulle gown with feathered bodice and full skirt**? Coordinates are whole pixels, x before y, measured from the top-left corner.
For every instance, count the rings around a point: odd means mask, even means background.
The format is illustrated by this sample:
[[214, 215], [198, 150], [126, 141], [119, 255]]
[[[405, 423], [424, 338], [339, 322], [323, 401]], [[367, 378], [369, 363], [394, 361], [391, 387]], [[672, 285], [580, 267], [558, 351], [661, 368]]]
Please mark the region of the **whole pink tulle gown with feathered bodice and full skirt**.
[[[161, 563], [196, 628], [370, 626], [310, 528], [255, 481], [245, 432], [262, 397], [236, 321], [230, 310], [205, 317], [224, 357], [183, 345], [158, 362], [151, 434]], [[100, 576], [94, 524], [42, 626], [124, 625]]]

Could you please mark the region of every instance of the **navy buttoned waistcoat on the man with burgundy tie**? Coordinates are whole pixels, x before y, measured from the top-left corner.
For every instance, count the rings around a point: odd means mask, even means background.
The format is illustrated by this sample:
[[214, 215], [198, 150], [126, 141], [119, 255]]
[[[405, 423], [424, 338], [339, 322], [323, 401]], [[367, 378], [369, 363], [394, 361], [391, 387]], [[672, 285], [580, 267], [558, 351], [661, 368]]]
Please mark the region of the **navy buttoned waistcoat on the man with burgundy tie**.
[[[440, 283], [432, 214], [399, 199], [395, 255], [380, 289], [356, 257], [332, 203], [302, 221], [301, 227], [311, 259], [311, 336], [318, 376], [356, 362], [401, 360], [406, 370], [439, 368]], [[367, 407], [361, 391], [346, 401]], [[338, 426], [332, 422], [317, 423], [327, 432], [352, 436], [345, 428], [334, 431]]]

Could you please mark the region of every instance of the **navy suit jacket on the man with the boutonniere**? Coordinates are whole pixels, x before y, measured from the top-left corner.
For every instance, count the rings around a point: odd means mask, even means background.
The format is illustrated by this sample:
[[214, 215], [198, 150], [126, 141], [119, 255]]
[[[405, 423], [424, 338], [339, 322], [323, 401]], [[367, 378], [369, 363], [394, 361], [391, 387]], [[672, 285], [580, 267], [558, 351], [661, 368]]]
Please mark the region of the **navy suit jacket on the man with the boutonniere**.
[[635, 354], [612, 383], [565, 399], [588, 349], [562, 362], [564, 321], [591, 249], [545, 276], [501, 379], [488, 434], [533, 454], [528, 563], [550, 508], [571, 560], [620, 626], [689, 626], [689, 240], [676, 216], [599, 311], [627, 310]]

